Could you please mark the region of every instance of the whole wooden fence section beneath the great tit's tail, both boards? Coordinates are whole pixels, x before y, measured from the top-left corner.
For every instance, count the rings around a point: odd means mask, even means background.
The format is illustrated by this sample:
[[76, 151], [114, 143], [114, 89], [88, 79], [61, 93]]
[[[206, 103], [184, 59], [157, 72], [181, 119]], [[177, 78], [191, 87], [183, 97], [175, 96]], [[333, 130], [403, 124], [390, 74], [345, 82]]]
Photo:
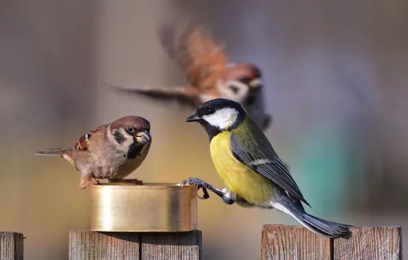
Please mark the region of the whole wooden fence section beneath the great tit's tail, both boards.
[[351, 231], [350, 239], [329, 239], [303, 226], [264, 225], [261, 259], [402, 259], [400, 226]]

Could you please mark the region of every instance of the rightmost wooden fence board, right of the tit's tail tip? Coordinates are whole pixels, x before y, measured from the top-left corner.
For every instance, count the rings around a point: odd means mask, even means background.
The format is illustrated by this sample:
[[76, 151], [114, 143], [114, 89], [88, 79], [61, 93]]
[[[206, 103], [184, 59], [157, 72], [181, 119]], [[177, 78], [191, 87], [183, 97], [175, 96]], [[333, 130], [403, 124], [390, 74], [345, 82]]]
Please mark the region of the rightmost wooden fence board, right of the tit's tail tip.
[[333, 259], [403, 259], [400, 226], [354, 227], [351, 239], [335, 239]]

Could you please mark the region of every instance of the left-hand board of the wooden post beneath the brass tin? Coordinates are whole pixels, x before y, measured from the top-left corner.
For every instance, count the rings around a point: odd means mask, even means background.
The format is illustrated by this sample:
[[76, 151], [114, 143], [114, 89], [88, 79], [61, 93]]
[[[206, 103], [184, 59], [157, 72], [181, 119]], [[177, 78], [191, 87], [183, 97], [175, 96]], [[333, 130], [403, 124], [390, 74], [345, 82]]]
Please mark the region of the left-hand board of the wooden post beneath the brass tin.
[[139, 260], [139, 233], [69, 232], [69, 259]]

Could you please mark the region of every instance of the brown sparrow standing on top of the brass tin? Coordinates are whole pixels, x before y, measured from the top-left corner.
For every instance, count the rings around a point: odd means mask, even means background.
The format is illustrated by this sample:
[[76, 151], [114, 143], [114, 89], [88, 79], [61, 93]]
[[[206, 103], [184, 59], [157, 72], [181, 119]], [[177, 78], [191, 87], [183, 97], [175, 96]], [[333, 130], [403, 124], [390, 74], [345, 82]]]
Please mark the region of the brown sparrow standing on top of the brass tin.
[[51, 148], [35, 155], [60, 156], [81, 172], [79, 187], [110, 182], [132, 182], [125, 179], [146, 158], [151, 146], [150, 123], [140, 116], [125, 116], [89, 131], [71, 148]]

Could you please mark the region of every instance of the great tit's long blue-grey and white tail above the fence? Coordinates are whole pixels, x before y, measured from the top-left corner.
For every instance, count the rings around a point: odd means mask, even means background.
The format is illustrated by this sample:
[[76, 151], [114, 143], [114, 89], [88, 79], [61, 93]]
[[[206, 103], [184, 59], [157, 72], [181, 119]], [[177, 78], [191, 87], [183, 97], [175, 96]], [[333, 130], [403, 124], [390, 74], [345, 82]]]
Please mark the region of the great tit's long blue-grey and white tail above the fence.
[[322, 220], [309, 215], [303, 209], [301, 202], [294, 203], [293, 200], [285, 199], [285, 202], [276, 203], [273, 205], [279, 211], [290, 214], [298, 222], [303, 224], [310, 231], [330, 238], [350, 238], [352, 233], [350, 231], [350, 225], [331, 222], [328, 220]]

